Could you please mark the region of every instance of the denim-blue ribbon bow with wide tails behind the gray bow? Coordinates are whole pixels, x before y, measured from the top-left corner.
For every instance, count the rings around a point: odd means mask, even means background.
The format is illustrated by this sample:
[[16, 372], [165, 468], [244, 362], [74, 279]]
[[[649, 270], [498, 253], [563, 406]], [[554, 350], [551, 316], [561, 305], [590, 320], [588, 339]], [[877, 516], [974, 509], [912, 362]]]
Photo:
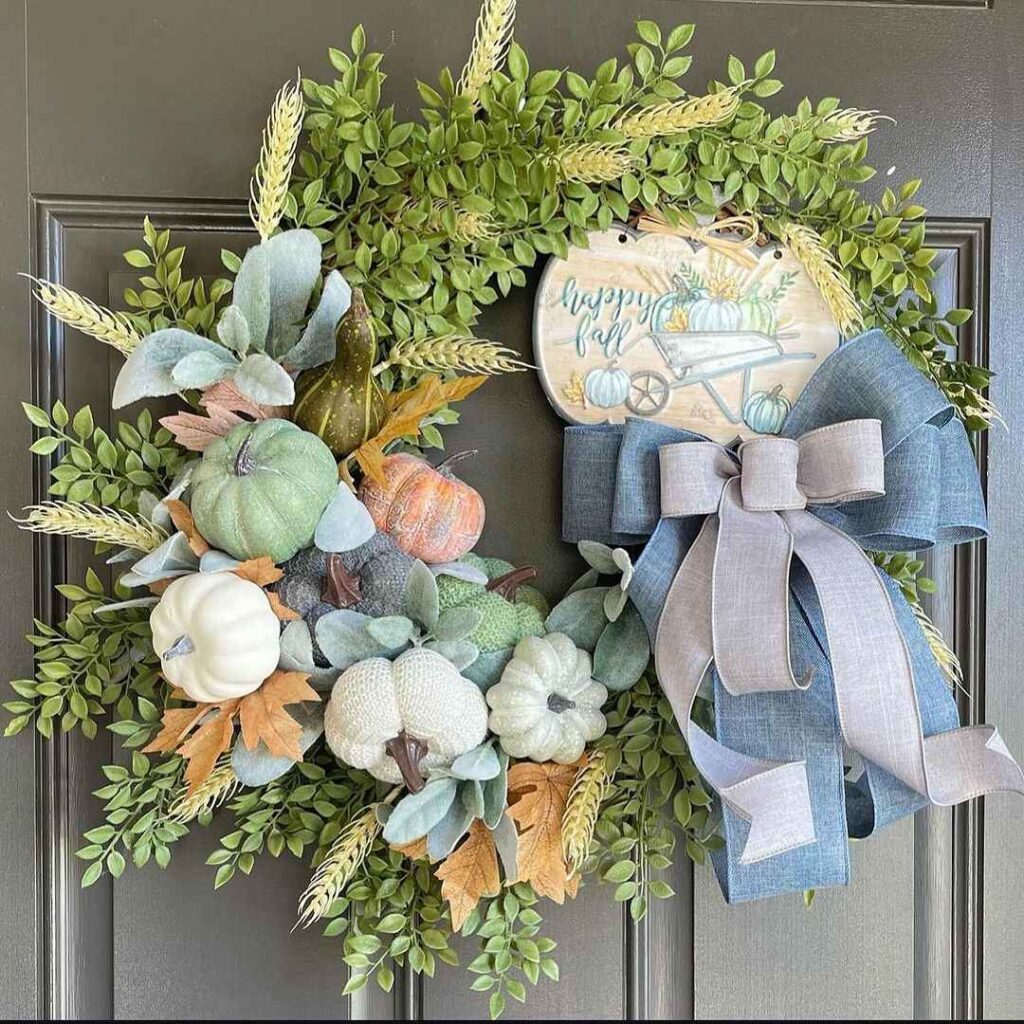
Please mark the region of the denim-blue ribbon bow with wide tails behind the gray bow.
[[[849, 420], [881, 422], [885, 494], [815, 505], [809, 508], [813, 515], [869, 550], [918, 551], [986, 535], [981, 486], [963, 425], [881, 331], [847, 342], [821, 364], [782, 436], [795, 439]], [[630, 596], [652, 638], [703, 521], [701, 516], [662, 516], [659, 450], [686, 441], [707, 438], [638, 419], [625, 426], [565, 430], [563, 539], [645, 543]], [[881, 577], [912, 664], [922, 731], [929, 736], [955, 729], [955, 703], [916, 618], [899, 588], [886, 573]], [[715, 867], [729, 902], [845, 884], [848, 835], [870, 835], [927, 803], [868, 762], [855, 780], [845, 777], [823, 616], [799, 562], [790, 579], [790, 631], [793, 672], [813, 679], [810, 687], [734, 696], [713, 669], [716, 737], [752, 758], [805, 763], [815, 841], [742, 863], [750, 822], [723, 806], [725, 848], [715, 855]]]

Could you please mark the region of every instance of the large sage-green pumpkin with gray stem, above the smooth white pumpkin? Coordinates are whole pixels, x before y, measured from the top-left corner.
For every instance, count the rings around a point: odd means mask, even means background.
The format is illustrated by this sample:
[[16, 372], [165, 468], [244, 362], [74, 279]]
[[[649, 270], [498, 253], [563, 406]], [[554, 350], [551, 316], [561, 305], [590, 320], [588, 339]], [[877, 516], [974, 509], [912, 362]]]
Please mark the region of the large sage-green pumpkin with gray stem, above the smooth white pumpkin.
[[318, 437], [288, 420], [242, 423], [203, 454], [191, 513], [213, 547], [283, 562], [310, 544], [337, 489], [337, 463]]

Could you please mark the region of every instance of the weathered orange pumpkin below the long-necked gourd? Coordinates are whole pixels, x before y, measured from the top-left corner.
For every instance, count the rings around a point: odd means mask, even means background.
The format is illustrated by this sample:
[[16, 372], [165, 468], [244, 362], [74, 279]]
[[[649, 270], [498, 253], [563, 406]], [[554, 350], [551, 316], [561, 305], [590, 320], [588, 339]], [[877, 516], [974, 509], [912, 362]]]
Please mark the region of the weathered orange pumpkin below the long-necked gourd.
[[384, 481], [366, 477], [359, 500], [402, 551], [428, 563], [454, 561], [472, 550], [483, 529], [483, 499], [449, 468], [473, 454], [462, 452], [436, 467], [414, 455], [388, 456]]

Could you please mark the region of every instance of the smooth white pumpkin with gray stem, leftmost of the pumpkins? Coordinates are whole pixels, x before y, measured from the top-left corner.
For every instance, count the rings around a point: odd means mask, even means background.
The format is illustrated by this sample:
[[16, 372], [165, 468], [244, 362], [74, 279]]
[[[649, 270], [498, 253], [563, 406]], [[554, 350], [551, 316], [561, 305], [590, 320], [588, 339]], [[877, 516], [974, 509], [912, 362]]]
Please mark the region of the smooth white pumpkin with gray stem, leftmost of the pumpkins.
[[179, 577], [150, 615], [164, 677], [200, 703], [252, 693], [278, 668], [281, 623], [233, 572]]

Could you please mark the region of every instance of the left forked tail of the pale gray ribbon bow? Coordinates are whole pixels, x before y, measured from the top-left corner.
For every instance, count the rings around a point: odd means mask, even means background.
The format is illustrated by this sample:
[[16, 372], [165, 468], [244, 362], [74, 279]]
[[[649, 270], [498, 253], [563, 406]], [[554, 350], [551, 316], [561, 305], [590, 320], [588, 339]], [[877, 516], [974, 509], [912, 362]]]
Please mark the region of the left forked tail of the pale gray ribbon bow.
[[669, 590], [654, 642], [654, 664], [697, 770], [722, 801], [751, 822], [740, 856], [750, 864], [815, 841], [803, 761], [778, 762], [730, 751], [690, 721], [713, 659], [712, 575], [718, 521], [709, 516]]

